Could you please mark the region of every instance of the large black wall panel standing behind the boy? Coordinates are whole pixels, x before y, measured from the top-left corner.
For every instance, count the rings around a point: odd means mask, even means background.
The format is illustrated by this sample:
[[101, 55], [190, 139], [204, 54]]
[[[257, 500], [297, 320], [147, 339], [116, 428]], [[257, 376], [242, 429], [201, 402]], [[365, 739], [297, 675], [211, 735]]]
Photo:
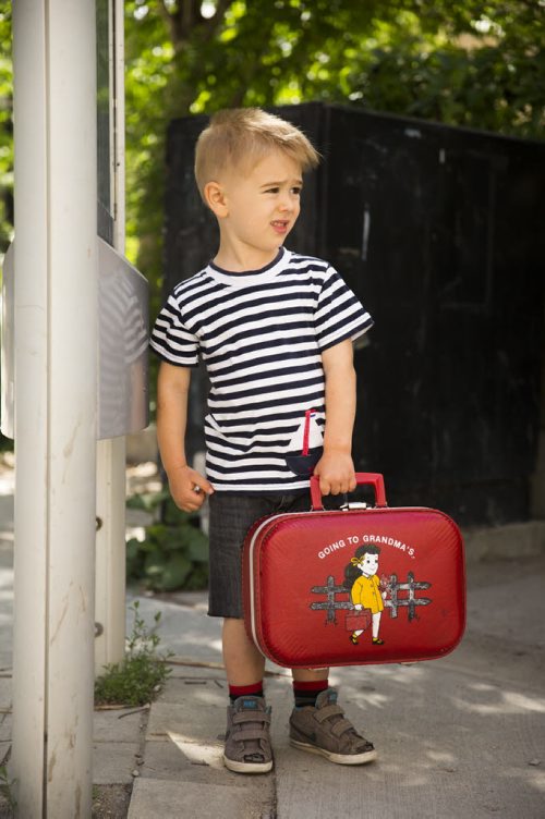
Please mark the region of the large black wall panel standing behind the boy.
[[[390, 504], [463, 524], [529, 516], [543, 332], [545, 146], [308, 103], [277, 110], [324, 156], [287, 246], [331, 261], [376, 325], [356, 346], [354, 460]], [[206, 119], [171, 123], [166, 282], [217, 248], [193, 182]], [[192, 445], [206, 384], [194, 379]]]

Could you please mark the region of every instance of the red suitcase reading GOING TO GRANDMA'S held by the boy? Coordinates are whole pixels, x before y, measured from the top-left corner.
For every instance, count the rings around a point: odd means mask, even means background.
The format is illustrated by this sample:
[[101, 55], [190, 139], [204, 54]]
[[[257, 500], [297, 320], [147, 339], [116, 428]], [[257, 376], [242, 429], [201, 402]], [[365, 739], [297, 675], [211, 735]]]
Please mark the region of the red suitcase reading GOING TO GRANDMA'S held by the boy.
[[382, 475], [356, 479], [375, 487], [375, 506], [325, 511], [313, 477], [311, 511], [271, 515], [246, 536], [246, 629], [279, 665], [429, 660], [462, 637], [465, 576], [455, 522], [433, 509], [389, 509]]

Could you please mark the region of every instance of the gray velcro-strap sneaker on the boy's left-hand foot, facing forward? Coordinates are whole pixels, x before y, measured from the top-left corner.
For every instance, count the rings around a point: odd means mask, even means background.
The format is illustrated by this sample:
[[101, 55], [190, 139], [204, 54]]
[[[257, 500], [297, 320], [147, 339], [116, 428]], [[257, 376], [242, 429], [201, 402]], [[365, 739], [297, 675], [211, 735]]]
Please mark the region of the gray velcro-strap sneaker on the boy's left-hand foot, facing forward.
[[227, 709], [223, 763], [237, 773], [266, 773], [272, 768], [270, 708], [263, 697], [243, 696]]

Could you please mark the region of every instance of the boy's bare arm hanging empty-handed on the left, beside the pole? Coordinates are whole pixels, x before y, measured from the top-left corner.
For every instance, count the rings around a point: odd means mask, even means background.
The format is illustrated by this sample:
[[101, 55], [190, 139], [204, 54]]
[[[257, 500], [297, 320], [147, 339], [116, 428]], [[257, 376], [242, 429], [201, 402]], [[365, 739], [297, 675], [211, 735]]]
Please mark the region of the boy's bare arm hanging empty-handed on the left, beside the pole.
[[[174, 503], [194, 512], [214, 489], [185, 459], [185, 427], [191, 369], [161, 362], [157, 380], [157, 441]], [[201, 491], [196, 492], [195, 487]]]

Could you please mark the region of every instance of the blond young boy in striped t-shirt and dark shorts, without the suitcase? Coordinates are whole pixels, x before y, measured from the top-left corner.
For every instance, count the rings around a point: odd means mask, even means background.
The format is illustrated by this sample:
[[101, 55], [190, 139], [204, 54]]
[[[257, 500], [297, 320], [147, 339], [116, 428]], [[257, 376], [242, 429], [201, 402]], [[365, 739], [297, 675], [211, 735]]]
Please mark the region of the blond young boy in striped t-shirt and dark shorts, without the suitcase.
[[[219, 249], [174, 288], [152, 339], [162, 359], [157, 435], [172, 498], [189, 512], [206, 497], [210, 503], [208, 613], [223, 618], [231, 701], [223, 760], [237, 772], [272, 768], [265, 660], [246, 636], [242, 612], [244, 535], [264, 515], [308, 509], [313, 470], [323, 496], [355, 488], [352, 340], [373, 322], [326, 261], [283, 248], [300, 212], [303, 172], [317, 162], [298, 129], [261, 109], [211, 118], [197, 142], [195, 176], [218, 220]], [[210, 379], [207, 478], [184, 452], [198, 356]], [[310, 418], [307, 454], [293, 457]], [[344, 765], [375, 759], [373, 745], [337, 705], [327, 669], [293, 670], [293, 690], [292, 745]]]

